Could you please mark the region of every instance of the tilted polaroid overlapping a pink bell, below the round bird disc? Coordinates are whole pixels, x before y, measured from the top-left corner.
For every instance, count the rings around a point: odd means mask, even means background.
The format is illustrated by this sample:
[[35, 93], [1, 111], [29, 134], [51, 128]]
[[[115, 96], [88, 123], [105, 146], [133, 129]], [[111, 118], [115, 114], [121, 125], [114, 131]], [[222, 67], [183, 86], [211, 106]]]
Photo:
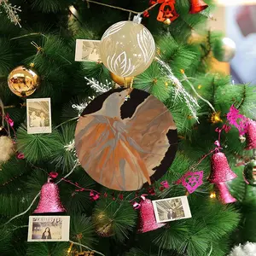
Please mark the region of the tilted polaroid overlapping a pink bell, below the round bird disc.
[[192, 217], [186, 195], [152, 202], [157, 223]]

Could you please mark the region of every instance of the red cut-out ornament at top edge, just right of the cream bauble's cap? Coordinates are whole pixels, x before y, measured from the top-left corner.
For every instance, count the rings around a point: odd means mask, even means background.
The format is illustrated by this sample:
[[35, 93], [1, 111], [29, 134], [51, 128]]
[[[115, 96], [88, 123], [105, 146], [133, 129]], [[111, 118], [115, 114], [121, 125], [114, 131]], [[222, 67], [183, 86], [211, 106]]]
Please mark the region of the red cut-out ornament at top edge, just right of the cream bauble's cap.
[[[165, 21], [169, 19], [171, 21], [176, 20], [179, 16], [175, 9], [176, 0], [150, 0], [149, 5], [154, 5], [155, 3], [160, 3], [159, 13], [157, 15], [157, 20]], [[148, 11], [145, 12], [144, 17], [149, 17]]]

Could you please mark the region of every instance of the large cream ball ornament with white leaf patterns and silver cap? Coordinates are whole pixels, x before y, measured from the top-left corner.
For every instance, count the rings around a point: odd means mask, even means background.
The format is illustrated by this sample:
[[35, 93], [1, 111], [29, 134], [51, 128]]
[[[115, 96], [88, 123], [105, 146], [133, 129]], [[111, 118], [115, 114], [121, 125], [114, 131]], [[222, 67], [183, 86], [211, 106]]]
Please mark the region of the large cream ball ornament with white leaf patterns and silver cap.
[[108, 70], [122, 78], [143, 73], [154, 60], [152, 34], [140, 24], [141, 18], [120, 21], [103, 34], [99, 45], [102, 62]]

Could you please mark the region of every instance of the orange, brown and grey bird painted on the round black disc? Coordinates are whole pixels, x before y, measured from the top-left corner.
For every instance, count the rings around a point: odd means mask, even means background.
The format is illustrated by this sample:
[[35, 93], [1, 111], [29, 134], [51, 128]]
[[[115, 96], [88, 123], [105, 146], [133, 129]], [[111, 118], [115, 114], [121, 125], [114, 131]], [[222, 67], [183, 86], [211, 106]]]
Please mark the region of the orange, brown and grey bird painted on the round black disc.
[[131, 118], [122, 119], [120, 108], [128, 94], [113, 92], [99, 111], [79, 119], [76, 130], [84, 170], [102, 185], [125, 191], [150, 184], [154, 167], [170, 147], [166, 134], [176, 129], [171, 113], [154, 96], [139, 104]]

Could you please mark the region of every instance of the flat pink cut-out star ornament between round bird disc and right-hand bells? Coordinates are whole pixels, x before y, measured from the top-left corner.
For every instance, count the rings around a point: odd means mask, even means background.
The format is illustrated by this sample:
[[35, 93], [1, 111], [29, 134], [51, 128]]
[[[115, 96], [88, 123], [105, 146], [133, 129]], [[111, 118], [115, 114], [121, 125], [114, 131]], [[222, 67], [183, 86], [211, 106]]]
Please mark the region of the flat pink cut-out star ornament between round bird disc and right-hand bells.
[[192, 194], [195, 189], [201, 186], [203, 183], [204, 172], [187, 172], [181, 177], [177, 183], [182, 183], [183, 187], [186, 188], [189, 194]]

